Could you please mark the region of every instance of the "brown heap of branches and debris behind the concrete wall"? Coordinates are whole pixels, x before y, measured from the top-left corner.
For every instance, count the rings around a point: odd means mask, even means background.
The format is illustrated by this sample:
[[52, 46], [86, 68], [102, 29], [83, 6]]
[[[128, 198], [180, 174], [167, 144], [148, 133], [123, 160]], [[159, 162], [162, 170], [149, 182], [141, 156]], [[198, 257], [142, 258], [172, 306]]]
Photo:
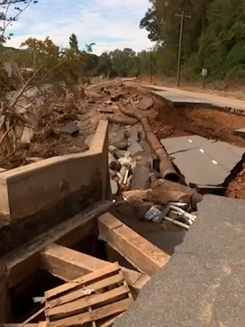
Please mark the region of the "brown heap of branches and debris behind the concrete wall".
[[53, 156], [88, 149], [101, 119], [127, 125], [137, 120], [123, 116], [122, 99], [139, 103], [143, 95], [130, 91], [119, 80], [89, 85], [30, 87], [6, 95], [1, 109], [0, 165], [11, 169]]

